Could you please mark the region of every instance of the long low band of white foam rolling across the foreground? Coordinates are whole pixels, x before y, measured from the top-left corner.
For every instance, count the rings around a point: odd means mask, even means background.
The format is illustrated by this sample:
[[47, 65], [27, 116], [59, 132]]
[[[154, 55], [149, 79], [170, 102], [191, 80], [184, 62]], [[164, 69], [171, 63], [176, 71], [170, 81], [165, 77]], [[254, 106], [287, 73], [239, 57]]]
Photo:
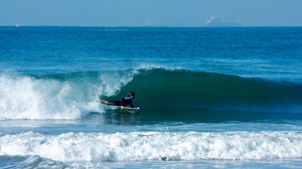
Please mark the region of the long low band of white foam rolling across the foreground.
[[302, 132], [26, 132], [0, 137], [0, 155], [60, 161], [300, 158]]

